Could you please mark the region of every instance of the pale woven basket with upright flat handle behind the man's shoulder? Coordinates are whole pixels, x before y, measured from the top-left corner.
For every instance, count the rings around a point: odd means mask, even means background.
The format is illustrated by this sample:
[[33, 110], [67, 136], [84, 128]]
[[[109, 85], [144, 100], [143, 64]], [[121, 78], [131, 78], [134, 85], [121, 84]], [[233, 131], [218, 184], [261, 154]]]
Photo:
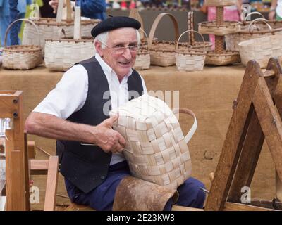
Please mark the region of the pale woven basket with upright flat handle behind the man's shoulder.
[[[77, 7], [75, 7], [77, 9]], [[75, 32], [80, 34], [80, 9], [75, 13]], [[95, 54], [94, 39], [46, 39], [45, 65], [51, 70], [66, 71], [73, 64], [91, 58]]]

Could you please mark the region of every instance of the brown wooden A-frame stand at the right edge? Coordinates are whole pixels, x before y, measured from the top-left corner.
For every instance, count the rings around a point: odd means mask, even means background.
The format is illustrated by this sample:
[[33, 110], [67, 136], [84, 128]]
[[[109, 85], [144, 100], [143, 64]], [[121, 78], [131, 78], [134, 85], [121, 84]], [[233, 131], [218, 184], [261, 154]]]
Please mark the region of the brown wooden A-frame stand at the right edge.
[[264, 139], [282, 180], [281, 74], [274, 58], [265, 72], [255, 60], [247, 63], [204, 210], [271, 210], [241, 204], [240, 198], [241, 188], [250, 187]]

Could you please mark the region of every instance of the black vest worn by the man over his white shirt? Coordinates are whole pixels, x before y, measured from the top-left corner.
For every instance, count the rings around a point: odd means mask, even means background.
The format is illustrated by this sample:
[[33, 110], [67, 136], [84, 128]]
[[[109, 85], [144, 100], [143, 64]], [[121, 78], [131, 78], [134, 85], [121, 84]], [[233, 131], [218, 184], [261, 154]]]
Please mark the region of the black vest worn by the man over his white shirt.
[[[109, 118], [111, 96], [108, 94], [106, 99], [103, 98], [105, 91], [109, 91], [109, 84], [106, 75], [94, 57], [82, 61], [80, 64], [85, 67], [88, 73], [87, 98], [85, 105], [67, 120], [95, 126]], [[135, 91], [135, 94], [130, 93], [129, 100], [136, 98], [137, 95], [142, 95], [142, 79], [135, 70], [128, 77], [128, 91]], [[103, 113], [104, 105], [106, 105], [108, 115]], [[59, 155], [61, 174], [84, 193], [92, 191], [106, 179], [111, 153], [105, 153], [98, 146], [85, 146], [78, 141], [58, 140], [56, 141], [56, 154]]]

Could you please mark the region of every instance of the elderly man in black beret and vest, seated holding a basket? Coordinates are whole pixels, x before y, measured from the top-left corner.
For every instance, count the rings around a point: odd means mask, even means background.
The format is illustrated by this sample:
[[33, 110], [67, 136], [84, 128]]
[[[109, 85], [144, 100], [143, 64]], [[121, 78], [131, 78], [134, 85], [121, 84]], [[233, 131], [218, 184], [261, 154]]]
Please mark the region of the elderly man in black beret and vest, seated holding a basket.
[[[94, 27], [95, 57], [68, 70], [25, 123], [29, 134], [58, 140], [68, 195], [74, 203], [96, 210], [112, 209], [118, 184], [130, 175], [121, 154], [125, 139], [111, 129], [117, 117], [109, 118], [109, 110], [137, 97], [130, 91], [139, 96], [147, 92], [144, 80], [132, 69], [139, 28], [137, 20], [127, 17], [108, 18]], [[200, 181], [188, 179], [178, 189], [178, 203], [202, 207], [201, 186]], [[169, 200], [165, 210], [171, 206]]]

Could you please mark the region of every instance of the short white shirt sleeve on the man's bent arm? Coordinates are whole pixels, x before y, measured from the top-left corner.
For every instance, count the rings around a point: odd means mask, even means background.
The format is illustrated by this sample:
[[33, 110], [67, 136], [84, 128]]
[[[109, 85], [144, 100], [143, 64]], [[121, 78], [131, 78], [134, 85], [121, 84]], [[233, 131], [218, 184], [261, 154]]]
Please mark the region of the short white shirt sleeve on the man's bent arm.
[[55, 89], [49, 92], [33, 112], [47, 113], [66, 120], [85, 104], [88, 92], [88, 74], [82, 65], [66, 71]]

